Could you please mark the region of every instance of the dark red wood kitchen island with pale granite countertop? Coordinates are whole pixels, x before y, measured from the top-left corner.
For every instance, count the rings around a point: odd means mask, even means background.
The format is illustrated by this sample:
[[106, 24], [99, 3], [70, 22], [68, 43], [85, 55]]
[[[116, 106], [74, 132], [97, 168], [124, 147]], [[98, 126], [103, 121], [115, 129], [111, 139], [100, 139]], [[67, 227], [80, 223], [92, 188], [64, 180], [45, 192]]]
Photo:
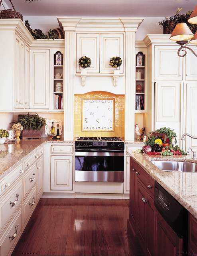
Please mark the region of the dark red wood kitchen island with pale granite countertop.
[[166, 172], [150, 161], [196, 163], [197, 160], [177, 155], [148, 156], [132, 150], [127, 150], [127, 154], [130, 155], [128, 230], [137, 236], [144, 254], [196, 255], [197, 172]]

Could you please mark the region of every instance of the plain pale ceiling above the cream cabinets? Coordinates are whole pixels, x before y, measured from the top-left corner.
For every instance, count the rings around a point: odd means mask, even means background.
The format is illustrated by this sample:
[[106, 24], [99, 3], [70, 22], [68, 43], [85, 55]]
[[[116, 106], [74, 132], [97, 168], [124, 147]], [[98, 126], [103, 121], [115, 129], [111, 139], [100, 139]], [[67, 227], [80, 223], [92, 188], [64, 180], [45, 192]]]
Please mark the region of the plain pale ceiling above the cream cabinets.
[[[3, 0], [12, 8], [10, 0]], [[169, 17], [194, 10], [196, 0], [12, 0], [23, 16]]]

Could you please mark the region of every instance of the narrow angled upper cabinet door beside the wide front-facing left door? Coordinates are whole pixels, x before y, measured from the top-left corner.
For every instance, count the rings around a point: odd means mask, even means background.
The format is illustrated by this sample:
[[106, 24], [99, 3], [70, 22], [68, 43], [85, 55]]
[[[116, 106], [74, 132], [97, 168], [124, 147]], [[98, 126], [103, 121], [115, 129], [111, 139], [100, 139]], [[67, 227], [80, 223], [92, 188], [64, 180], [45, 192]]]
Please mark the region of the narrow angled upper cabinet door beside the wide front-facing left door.
[[30, 108], [30, 49], [25, 46], [25, 97], [24, 108]]

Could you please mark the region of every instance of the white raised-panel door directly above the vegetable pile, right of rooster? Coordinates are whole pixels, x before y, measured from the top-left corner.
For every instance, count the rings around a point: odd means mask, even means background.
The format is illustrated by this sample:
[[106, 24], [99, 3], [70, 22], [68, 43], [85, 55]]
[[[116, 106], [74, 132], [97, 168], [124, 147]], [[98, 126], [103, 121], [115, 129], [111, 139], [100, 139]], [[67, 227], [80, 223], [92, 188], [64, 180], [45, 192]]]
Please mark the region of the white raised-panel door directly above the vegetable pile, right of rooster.
[[156, 122], [180, 122], [181, 82], [158, 82], [155, 89]]

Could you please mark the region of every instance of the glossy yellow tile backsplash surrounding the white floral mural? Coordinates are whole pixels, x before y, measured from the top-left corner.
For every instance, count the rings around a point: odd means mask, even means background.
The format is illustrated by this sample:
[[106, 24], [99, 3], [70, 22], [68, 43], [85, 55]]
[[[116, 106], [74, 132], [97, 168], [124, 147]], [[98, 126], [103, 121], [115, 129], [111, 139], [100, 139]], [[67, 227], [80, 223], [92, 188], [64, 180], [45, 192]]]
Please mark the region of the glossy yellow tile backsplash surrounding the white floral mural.
[[[82, 131], [82, 99], [94, 98], [99, 100], [100, 98], [114, 99], [115, 101], [115, 116], [114, 116], [114, 131]], [[74, 95], [74, 132], [75, 137], [87, 136], [87, 137], [120, 137], [124, 139], [124, 103], [125, 97], [122, 94], [113, 94], [110, 92], [95, 91], [87, 92], [85, 94]]]

